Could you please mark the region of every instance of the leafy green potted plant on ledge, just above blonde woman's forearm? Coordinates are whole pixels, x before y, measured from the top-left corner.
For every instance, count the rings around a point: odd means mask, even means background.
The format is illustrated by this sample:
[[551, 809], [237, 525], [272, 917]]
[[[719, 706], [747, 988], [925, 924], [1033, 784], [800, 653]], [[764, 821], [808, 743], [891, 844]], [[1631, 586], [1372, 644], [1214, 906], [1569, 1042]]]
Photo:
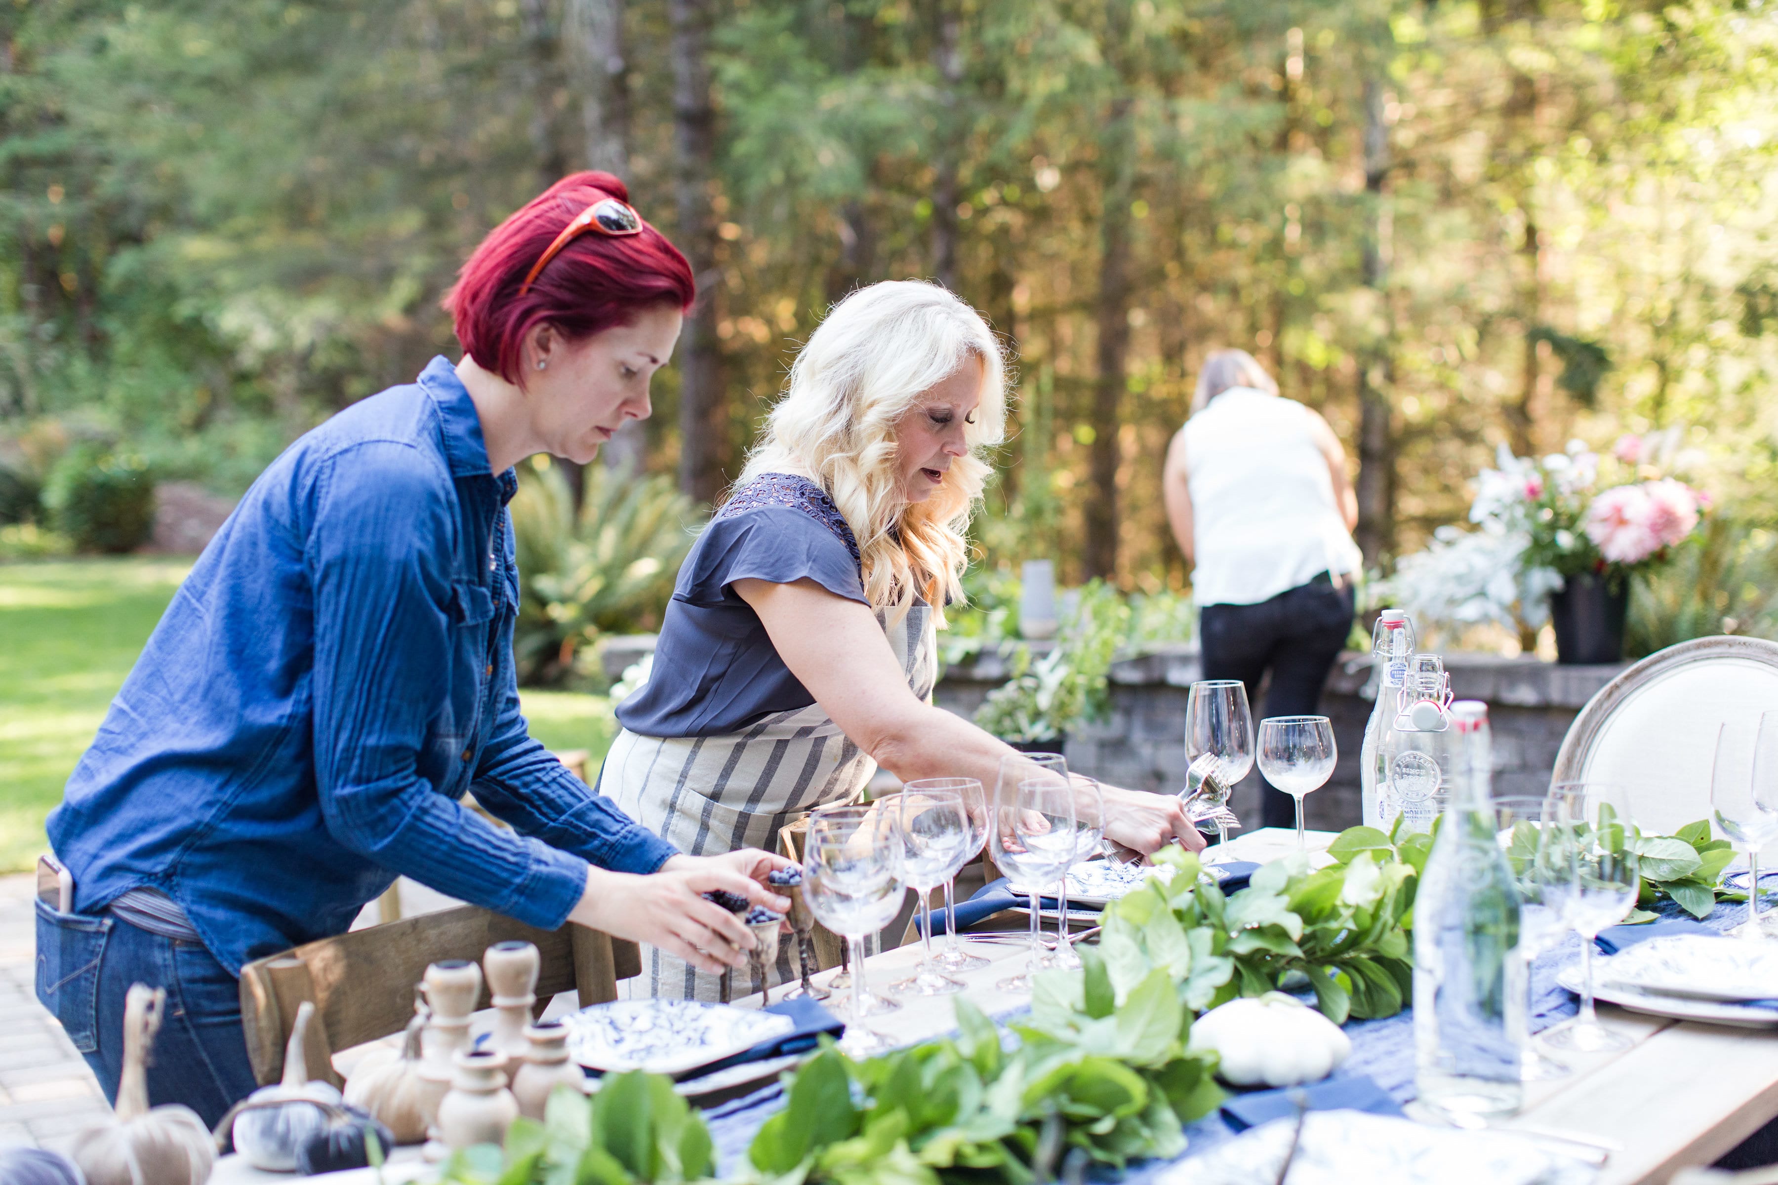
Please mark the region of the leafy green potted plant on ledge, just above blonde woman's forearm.
[[1129, 606], [1104, 581], [1092, 581], [1063, 608], [1054, 645], [1033, 654], [1015, 645], [1012, 677], [976, 709], [976, 723], [1024, 752], [1060, 753], [1069, 728], [1102, 718], [1106, 675], [1129, 625]]

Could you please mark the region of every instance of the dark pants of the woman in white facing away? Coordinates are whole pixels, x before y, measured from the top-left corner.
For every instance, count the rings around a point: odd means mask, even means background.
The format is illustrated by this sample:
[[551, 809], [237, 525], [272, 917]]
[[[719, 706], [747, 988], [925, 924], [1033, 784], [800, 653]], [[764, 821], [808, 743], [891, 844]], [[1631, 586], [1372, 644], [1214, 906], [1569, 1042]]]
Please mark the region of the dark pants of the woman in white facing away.
[[[1351, 585], [1335, 590], [1326, 576], [1259, 604], [1207, 604], [1198, 613], [1204, 677], [1246, 684], [1255, 737], [1264, 716], [1317, 716], [1321, 684], [1351, 632]], [[1259, 711], [1259, 682], [1268, 670], [1271, 688]], [[1294, 799], [1264, 776], [1259, 799], [1262, 826], [1296, 826]]]

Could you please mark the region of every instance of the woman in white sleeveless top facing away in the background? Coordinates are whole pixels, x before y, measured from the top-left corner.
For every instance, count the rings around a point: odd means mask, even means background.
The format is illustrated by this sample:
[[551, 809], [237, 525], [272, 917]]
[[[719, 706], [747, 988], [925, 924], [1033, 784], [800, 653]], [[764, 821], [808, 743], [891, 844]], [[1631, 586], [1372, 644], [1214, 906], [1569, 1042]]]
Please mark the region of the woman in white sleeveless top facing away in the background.
[[[1198, 373], [1163, 481], [1173, 537], [1195, 563], [1204, 677], [1239, 679], [1252, 702], [1269, 670], [1264, 716], [1319, 712], [1362, 563], [1334, 430], [1282, 398], [1246, 350], [1220, 350]], [[1271, 785], [1261, 807], [1264, 826], [1294, 823], [1291, 798]]]

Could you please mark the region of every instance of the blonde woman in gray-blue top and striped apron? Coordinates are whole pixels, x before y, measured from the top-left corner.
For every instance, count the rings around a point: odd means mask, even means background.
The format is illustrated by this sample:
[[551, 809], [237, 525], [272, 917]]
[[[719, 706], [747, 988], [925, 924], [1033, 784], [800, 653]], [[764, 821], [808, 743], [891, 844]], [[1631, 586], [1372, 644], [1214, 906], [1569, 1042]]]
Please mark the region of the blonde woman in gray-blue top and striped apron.
[[[649, 680], [617, 709], [605, 794], [713, 855], [772, 849], [877, 766], [994, 785], [1012, 750], [928, 696], [1005, 380], [994, 332], [944, 288], [894, 281], [834, 306], [679, 569]], [[1204, 844], [1173, 798], [1106, 787], [1106, 808], [1129, 847]], [[653, 995], [715, 995], [713, 975], [661, 950], [644, 974]]]

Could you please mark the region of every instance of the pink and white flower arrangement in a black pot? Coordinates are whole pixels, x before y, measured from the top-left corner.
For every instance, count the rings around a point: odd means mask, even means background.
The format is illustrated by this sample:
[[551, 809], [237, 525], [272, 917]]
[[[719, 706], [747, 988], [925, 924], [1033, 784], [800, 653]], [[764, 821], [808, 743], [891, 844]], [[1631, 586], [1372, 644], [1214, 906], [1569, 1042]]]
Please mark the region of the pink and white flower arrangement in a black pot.
[[1581, 441], [1549, 457], [1515, 457], [1476, 476], [1474, 531], [1444, 526], [1387, 581], [1410, 611], [1449, 625], [1494, 622], [1520, 632], [1549, 620], [1549, 599], [1570, 577], [1625, 581], [1670, 560], [1693, 537], [1710, 499], [1671, 476], [1691, 464], [1680, 430], [1625, 435], [1609, 457]]

